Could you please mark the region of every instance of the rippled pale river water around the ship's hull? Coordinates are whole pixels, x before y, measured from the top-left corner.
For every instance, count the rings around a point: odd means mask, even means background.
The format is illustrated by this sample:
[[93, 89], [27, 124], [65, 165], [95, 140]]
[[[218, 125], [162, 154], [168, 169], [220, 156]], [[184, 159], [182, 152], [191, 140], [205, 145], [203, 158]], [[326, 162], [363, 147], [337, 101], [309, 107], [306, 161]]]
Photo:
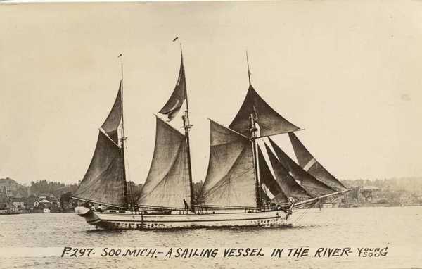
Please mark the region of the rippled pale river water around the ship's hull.
[[[296, 213], [298, 214], [298, 213]], [[0, 268], [421, 268], [422, 207], [333, 208], [309, 211], [293, 227], [104, 231], [73, 213], [0, 215], [0, 248], [288, 248], [309, 256], [281, 258], [1, 258]], [[380, 257], [358, 257], [357, 248], [388, 247]], [[351, 247], [350, 256], [314, 257], [319, 247]], [[36, 251], [36, 249], [34, 249]], [[285, 253], [286, 254], [286, 253]]]

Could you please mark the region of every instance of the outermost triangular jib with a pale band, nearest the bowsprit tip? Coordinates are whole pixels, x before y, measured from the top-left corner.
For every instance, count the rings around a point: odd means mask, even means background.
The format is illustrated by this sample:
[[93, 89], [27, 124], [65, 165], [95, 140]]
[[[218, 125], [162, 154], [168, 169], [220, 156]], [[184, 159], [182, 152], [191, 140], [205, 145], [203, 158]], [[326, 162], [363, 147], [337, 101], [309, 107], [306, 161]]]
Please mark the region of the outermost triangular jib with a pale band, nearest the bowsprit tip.
[[309, 153], [293, 132], [289, 132], [288, 136], [290, 137], [290, 142], [292, 143], [296, 158], [298, 158], [298, 163], [303, 170], [336, 191], [340, 192], [347, 190], [347, 188], [338, 179], [331, 175], [331, 173], [329, 173], [318, 161], [316, 161], [314, 156]]

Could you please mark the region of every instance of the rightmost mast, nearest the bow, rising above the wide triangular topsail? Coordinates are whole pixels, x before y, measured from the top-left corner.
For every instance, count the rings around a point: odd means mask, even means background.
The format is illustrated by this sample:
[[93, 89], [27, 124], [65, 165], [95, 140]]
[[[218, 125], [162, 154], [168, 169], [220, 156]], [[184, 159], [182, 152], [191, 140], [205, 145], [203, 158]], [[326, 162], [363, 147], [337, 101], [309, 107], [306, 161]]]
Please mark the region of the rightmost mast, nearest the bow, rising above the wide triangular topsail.
[[[252, 84], [250, 83], [250, 69], [249, 69], [249, 58], [248, 51], [246, 51], [246, 63], [248, 63], [248, 80], [249, 80], [249, 91], [251, 92]], [[260, 173], [258, 171], [258, 158], [257, 158], [257, 126], [255, 120], [257, 119], [257, 113], [255, 111], [255, 106], [253, 106], [253, 111], [250, 113], [250, 141], [252, 142], [252, 154], [253, 154], [253, 170], [255, 172], [255, 189], [257, 196], [257, 208], [260, 209], [262, 206], [261, 198], [261, 188], [260, 188]]]

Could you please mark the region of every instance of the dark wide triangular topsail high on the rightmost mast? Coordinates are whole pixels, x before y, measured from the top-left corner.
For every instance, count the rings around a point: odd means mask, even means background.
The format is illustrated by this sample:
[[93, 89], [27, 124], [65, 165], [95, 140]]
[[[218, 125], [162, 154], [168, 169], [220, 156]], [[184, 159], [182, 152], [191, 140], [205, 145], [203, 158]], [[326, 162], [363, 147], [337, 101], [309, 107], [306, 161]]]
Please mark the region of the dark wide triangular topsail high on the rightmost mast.
[[250, 114], [252, 113], [256, 116], [255, 122], [260, 126], [261, 137], [294, 132], [295, 130], [300, 129], [274, 111], [274, 109], [257, 94], [252, 85], [250, 85], [241, 109], [238, 111], [233, 122], [231, 122], [229, 128], [236, 132], [240, 132], [246, 137], [251, 137]]

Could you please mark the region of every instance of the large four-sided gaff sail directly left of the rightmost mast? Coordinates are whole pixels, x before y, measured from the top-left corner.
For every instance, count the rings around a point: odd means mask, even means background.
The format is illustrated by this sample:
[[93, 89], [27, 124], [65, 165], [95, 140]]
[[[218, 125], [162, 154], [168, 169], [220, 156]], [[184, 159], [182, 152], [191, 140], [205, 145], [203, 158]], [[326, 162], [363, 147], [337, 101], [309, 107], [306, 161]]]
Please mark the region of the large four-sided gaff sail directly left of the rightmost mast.
[[210, 161], [200, 206], [256, 208], [252, 143], [212, 120], [210, 127]]

